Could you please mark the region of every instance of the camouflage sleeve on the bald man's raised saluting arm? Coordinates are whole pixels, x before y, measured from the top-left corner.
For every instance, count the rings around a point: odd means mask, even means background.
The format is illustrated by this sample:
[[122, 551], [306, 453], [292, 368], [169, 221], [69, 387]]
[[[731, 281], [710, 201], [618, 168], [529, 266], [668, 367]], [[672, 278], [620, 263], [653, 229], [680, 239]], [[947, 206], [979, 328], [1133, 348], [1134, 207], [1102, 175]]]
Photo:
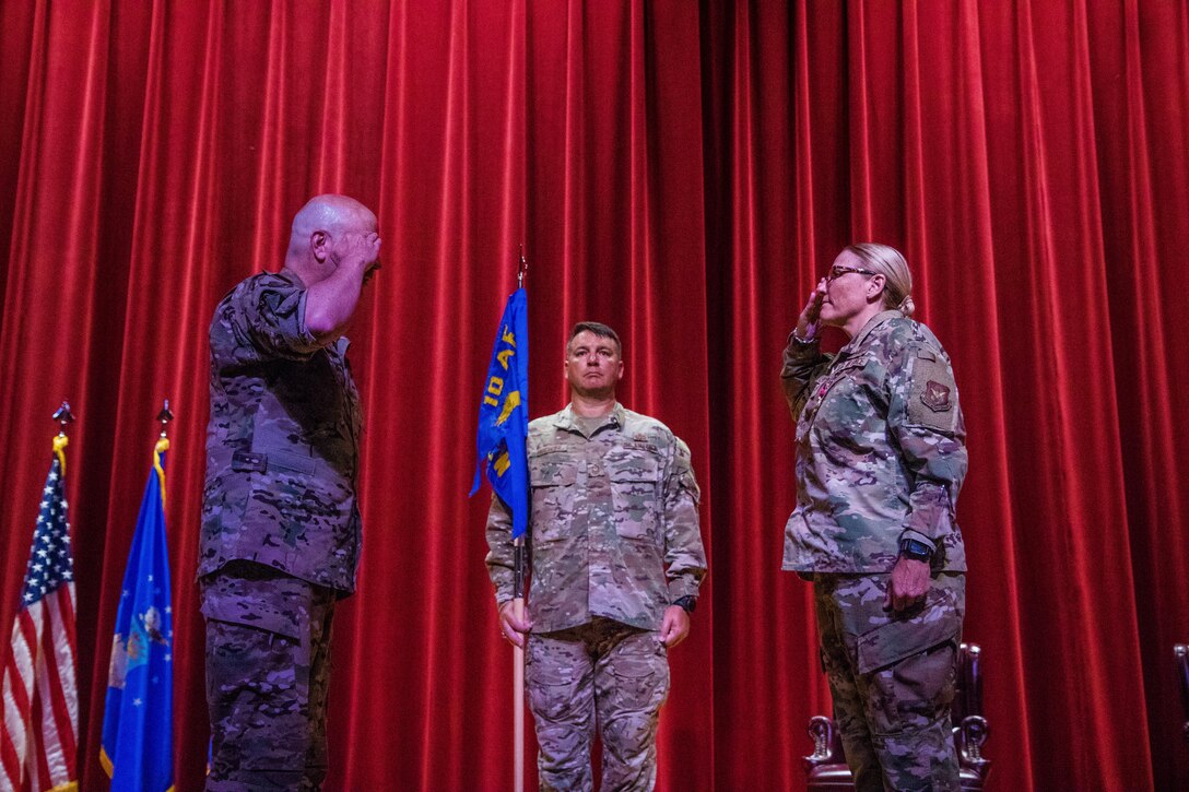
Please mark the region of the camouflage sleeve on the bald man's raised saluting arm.
[[232, 293], [224, 321], [245, 353], [304, 359], [322, 346], [306, 327], [306, 289], [285, 278], [256, 277]]

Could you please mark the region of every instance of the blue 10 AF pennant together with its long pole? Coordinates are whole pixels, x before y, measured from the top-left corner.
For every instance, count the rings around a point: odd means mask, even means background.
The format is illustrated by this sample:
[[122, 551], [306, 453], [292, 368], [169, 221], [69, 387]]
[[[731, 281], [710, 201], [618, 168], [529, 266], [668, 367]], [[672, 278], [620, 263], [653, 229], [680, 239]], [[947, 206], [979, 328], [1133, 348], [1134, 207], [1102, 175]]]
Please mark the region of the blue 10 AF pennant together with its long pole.
[[[524, 578], [529, 533], [529, 480], [526, 442], [528, 440], [528, 297], [524, 293], [524, 247], [521, 245], [516, 291], [508, 298], [496, 344], [491, 351], [482, 401], [479, 403], [478, 457], [474, 486], [479, 490], [480, 471], [512, 515], [512, 597], [523, 618]], [[516, 792], [524, 788], [524, 650], [512, 653], [512, 741]]]

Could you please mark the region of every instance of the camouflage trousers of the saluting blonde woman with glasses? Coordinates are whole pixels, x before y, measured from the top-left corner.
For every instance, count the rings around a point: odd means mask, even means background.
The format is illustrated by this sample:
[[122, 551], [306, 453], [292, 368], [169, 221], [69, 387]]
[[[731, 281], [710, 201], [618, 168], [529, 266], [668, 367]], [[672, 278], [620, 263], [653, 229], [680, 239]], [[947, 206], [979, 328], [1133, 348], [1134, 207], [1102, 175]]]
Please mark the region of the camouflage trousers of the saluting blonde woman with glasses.
[[925, 603], [883, 610], [887, 574], [813, 586], [822, 664], [856, 790], [957, 790], [950, 729], [965, 577], [933, 578]]

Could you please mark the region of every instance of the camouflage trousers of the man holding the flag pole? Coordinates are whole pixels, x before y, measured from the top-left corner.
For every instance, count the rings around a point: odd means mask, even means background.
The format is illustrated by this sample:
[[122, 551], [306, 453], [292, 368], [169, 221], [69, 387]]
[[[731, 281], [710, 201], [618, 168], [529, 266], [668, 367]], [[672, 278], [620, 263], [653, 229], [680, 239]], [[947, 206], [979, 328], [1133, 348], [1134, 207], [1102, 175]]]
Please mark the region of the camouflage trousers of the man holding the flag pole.
[[593, 787], [591, 742], [603, 741], [603, 790], [652, 790], [668, 660], [655, 631], [594, 618], [528, 636], [524, 680], [540, 746], [540, 787]]

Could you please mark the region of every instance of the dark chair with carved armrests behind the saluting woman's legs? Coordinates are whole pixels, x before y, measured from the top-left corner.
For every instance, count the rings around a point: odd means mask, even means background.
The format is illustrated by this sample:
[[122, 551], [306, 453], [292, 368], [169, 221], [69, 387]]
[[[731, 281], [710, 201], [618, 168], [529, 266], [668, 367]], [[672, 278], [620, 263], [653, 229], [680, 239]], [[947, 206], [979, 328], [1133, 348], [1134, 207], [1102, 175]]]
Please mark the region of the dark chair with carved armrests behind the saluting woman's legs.
[[[1189, 685], [1189, 666], [1183, 665], [1184, 654], [1181, 658], [1182, 670], [1185, 672], [1183, 681]], [[1189, 692], [1185, 694], [1189, 697]], [[1185, 704], [1189, 708], [1189, 698]], [[982, 717], [982, 649], [977, 645], [963, 643], [958, 648], [957, 678], [950, 717], [954, 724], [954, 742], [958, 752], [962, 788], [982, 790], [987, 773], [990, 772], [990, 760], [982, 755], [982, 746], [987, 742], [990, 727]], [[1185, 724], [1185, 729], [1189, 736], [1189, 723]], [[842, 753], [842, 737], [833, 728], [833, 721], [824, 715], [814, 716], [810, 718], [809, 733], [813, 738], [813, 753], [805, 756], [804, 761], [811, 792], [854, 790], [855, 781], [850, 775], [850, 768], [847, 767], [847, 758]]]

